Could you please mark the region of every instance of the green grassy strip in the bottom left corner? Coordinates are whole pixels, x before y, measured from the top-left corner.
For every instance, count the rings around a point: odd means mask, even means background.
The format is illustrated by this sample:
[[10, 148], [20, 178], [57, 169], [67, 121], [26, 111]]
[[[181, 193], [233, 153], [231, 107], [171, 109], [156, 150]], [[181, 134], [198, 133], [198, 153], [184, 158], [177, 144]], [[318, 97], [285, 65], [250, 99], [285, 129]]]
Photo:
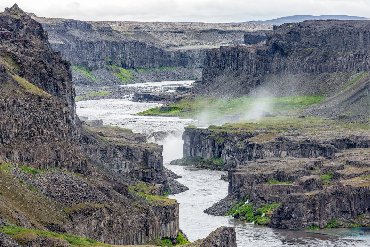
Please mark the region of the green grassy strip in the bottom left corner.
[[53, 238], [61, 238], [68, 243], [70, 243], [74, 247], [87, 247], [87, 246], [110, 246], [109, 244], [103, 244], [96, 240], [93, 240], [91, 238], [85, 238], [76, 236], [73, 234], [58, 234], [54, 232], [48, 232], [48, 231], [41, 231], [41, 230], [30, 230], [23, 227], [17, 227], [17, 226], [6, 226], [0, 228], [0, 231], [5, 233], [6, 235], [13, 238], [15, 241], [20, 243], [21, 245], [24, 245], [30, 240], [33, 240], [37, 238], [37, 236], [44, 236], [44, 237], [53, 237]]

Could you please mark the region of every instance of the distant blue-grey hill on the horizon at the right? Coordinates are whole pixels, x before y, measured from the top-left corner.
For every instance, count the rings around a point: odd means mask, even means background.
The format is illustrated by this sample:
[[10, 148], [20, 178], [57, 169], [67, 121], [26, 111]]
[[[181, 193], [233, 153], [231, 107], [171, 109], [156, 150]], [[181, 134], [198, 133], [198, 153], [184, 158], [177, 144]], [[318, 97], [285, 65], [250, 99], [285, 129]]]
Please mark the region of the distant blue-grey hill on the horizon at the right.
[[258, 24], [272, 24], [272, 25], [281, 25], [284, 23], [290, 22], [301, 22], [305, 20], [370, 20], [370, 18], [359, 17], [359, 16], [344, 16], [341, 14], [326, 14], [323, 16], [285, 16], [272, 20], [266, 21], [245, 21], [245, 22], [232, 22], [232, 23], [258, 23]]

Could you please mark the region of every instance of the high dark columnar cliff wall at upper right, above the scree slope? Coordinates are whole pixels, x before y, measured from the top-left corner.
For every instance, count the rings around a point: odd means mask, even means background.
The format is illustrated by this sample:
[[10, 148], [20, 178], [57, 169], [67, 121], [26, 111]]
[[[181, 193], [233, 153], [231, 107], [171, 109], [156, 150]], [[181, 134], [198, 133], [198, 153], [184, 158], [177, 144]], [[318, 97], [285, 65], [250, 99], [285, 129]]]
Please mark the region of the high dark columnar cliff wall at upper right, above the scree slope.
[[[266, 44], [207, 52], [199, 92], [240, 96], [281, 73], [369, 72], [368, 21], [309, 20], [274, 26]], [[238, 90], [230, 90], [229, 87]]]

